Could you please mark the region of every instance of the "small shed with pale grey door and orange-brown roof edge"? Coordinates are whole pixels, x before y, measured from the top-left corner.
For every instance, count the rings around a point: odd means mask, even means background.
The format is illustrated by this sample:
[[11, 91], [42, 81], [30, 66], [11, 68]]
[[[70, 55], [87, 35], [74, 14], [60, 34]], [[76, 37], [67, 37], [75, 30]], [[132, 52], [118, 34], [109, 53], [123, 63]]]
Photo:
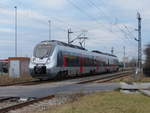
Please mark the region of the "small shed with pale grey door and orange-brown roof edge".
[[10, 57], [9, 61], [9, 76], [21, 77], [29, 75], [29, 62], [28, 57]]

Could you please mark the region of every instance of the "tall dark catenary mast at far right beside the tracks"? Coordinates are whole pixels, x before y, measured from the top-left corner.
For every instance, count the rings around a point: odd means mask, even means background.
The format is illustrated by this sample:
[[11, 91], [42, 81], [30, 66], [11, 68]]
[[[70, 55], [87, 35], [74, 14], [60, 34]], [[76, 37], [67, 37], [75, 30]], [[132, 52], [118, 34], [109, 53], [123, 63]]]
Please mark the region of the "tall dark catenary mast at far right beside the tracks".
[[142, 71], [142, 40], [141, 40], [141, 15], [137, 13], [138, 19], [138, 68], [139, 71]]

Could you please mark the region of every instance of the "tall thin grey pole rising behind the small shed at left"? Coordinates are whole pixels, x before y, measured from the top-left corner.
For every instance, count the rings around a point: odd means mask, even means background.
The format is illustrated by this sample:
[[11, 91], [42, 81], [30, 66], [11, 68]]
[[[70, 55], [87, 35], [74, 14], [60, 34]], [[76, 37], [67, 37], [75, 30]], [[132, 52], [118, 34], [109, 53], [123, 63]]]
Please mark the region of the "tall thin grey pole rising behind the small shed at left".
[[15, 57], [17, 57], [17, 6], [15, 8]]

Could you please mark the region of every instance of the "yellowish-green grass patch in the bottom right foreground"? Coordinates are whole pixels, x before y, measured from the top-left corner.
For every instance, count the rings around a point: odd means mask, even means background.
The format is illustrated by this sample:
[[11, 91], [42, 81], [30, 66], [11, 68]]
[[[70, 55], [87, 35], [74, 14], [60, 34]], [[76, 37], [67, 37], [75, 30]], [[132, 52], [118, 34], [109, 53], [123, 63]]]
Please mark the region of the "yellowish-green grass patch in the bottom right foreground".
[[149, 113], [150, 98], [140, 94], [103, 92], [42, 113]]

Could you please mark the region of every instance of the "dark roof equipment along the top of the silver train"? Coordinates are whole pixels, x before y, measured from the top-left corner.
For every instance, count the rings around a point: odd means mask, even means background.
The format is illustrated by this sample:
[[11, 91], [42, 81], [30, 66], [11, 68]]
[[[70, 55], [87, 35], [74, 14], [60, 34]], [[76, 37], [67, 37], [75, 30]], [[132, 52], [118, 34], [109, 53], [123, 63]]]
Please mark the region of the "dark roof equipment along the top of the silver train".
[[[46, 41], [42, 41], [41, 43], [51, 43], [51, 42], [55, 43], [55, 44], [58, 44], [58, 45], [61, 45], [61, 46], [66, 46], [66, 47], [71, 47], [71, 48], [75, 48], [75, 49], [80, 49], [80, 50], [87, 51], [85, 48], [82, 48], [80, 46], [76, 46], [76, 45], [72, 45], [72, 44], [67, 44], [65, 42], [61, 42], [61, 41], [58, 41], [58, 40], [46, 40]], [[107, 56], [117, 57], [115, 55], [112, 55], [112, 54], [109, 54], [109, 53], [104, 53], [104, 52], [101, 52], [101, 51], [98, 51], [98, 50], [93, 50], [92, 52], [93, 53], [107, 55]]]

